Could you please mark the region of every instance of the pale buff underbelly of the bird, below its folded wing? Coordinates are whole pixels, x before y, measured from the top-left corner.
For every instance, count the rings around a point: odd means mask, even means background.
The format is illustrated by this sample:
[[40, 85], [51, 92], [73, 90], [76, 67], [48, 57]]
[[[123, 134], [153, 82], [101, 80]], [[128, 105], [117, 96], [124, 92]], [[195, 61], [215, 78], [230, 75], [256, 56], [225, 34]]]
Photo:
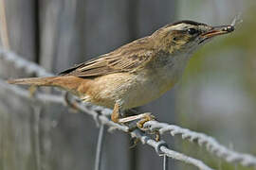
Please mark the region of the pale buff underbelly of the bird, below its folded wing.
[[122, 110], [143, 106], [166, 93], [175, 81], [158, 76], [109, 75], [99, 79], [83, 100], [113, 108], [118, 102]]

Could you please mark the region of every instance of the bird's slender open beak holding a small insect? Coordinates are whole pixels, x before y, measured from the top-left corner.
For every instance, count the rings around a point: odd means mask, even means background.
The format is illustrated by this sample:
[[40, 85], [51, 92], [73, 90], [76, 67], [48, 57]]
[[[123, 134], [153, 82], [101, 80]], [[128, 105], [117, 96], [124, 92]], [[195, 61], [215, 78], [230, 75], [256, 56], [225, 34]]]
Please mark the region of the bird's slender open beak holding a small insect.
[[234, 26], [213, 26], [209, 31], [201, 34], [203, 39], [210, 39], [212, 37], [228, 34], [234, 31]]

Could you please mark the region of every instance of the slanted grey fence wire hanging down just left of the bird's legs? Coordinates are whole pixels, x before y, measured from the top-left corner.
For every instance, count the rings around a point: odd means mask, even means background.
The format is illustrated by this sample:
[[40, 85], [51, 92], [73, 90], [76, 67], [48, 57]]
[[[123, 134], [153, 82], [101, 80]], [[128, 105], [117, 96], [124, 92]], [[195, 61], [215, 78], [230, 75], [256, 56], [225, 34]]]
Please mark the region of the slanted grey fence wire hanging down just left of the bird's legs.
[[105, 126], [101, 125], [99, 130], [97, 148], [96, 148], [96, 157], [95, 157], [95, 170], [101, 170], [101, 152], [102, 152], [102, 145], [104, 140], [104, 130]]

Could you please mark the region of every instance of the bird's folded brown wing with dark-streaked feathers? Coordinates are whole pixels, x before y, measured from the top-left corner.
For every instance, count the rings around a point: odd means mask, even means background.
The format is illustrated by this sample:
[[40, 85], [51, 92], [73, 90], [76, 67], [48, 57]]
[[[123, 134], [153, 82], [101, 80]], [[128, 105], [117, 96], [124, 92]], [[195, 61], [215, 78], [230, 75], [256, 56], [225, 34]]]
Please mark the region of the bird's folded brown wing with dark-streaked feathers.
[[86, 77], [134, 72], [153, 58], [152, 53], [151, 50], [141, 48], [141, 45], [127, 44], [97, 59], [69, 68], [60, 75]]

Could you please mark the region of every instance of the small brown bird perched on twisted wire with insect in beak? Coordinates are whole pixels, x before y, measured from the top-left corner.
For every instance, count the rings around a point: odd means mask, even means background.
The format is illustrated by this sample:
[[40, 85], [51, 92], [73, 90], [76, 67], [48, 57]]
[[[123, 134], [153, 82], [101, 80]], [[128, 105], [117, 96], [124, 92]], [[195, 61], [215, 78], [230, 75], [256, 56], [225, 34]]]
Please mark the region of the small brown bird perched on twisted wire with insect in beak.
[[75, 65], [60, 76], [14, 79], [9, 83], [60, 87], [82, 101], [114, 109], [111, 118], [119, 123], [119, 110], [145, 105], [169, 91], [192, 52], [213, 37], [233, 30], [234, 26], [180, 21]]

